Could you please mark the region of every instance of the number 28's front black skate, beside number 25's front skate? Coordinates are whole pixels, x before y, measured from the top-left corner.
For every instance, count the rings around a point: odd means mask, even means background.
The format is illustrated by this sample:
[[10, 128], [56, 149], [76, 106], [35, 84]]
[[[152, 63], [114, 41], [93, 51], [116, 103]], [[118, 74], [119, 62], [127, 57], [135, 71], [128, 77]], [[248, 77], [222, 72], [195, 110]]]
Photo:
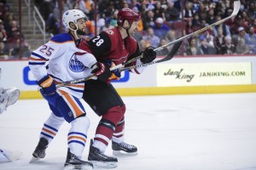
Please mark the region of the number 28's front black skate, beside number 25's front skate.
[[93, 167], [113, 168], [117, 167], [118, 159], [116, 157], [106, 156], [101, 150], [92, 145], [93, 140], [90, 140], [90, 151], [88, 161], [93, 164]]

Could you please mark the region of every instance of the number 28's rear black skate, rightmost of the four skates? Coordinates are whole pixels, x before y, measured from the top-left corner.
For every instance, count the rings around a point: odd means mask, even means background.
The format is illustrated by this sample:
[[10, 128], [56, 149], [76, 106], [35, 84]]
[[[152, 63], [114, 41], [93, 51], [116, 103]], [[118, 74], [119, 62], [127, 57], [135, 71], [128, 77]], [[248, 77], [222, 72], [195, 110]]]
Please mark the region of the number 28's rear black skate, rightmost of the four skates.
[[126, 144], [125, 142], [116, 143], [112, 141], [112, 150], [113, 150], [113, 155], [115, 156], [120, 156], [120, 155], [136, 156], [137, 155], [137, 147], [132, 144]]

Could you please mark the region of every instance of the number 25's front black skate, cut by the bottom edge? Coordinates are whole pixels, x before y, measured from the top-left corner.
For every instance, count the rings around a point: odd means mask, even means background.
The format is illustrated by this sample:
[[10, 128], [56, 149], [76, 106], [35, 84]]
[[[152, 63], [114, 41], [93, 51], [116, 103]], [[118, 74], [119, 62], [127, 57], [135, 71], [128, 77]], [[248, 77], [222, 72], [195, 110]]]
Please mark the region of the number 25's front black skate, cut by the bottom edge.
[[88, 161], [82, 161], [78, 158], [78, 156], [73, 155], [73, 153], [70, 152], [70, 149], [67, 150], [67, 159], [64, 165], [64, 170], [73, 170], [73, 169], [79, 169], [79, 170], [89, 170], [93, 169], [92, 163]]

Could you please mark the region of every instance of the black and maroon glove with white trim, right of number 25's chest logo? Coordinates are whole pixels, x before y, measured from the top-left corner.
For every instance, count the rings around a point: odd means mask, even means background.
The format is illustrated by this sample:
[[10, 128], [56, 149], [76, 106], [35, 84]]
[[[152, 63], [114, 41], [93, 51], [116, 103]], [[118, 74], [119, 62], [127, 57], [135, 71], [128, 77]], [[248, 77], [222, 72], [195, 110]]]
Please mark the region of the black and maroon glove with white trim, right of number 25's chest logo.
[[110, 65], [108, 65], [108, 63], [97, 62], [96, 65], [92, 66], [93, 70], [91, 73], [98, 77], [100, 81], [105, 82], [109, 77], [111, 77], [111, 71], [109, 68]]

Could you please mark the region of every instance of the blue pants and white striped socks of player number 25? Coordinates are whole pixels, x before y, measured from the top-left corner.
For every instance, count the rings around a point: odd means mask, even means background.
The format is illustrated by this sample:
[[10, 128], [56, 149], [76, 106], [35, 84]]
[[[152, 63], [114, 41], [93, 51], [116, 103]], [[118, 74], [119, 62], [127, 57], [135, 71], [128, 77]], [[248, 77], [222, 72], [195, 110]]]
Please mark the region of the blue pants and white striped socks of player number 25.
[[[47, 98], [48, 96], [44, 96], [44, 99]], [[44, 122], [40, 138], [43, 137], [50, 142], [55, 138], [61, 124], [66, 120], [71, 124], [67, 134], [68, 147], [74, 155], [81, 157], [87, 140], [87, 131], [90, 127], [90, 120], [86, 116], [84, 106], [78, 98], [61, 90], [57, 90], [54, 99], [48, 100], [52, 113]]]

